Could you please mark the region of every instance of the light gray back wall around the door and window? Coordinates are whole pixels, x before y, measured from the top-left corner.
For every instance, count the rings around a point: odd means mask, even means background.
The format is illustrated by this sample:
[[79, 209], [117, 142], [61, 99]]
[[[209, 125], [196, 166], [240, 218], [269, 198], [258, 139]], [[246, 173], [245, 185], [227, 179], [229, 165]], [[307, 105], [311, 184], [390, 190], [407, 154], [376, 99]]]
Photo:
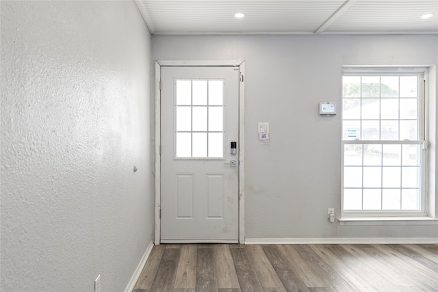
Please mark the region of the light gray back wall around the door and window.
[[[438, 237], [438, 226], [339, 226], [342, 66], [436, 65], [437, 36], [153, 36], [153, 59], [245, 60], [248, 238]], [[270, 122], [260, 145], [257, 122]], [[434, 196], [437, 196], [435, 193]]]

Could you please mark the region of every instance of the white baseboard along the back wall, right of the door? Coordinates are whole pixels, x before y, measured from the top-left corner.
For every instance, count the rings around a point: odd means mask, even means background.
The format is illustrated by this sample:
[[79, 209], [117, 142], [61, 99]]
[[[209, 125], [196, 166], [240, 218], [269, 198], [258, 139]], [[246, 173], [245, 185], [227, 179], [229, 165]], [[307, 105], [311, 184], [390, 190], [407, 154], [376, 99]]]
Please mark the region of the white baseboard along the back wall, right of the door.
[[437, 244], [438, 238], [246, 238], [245, 244]]

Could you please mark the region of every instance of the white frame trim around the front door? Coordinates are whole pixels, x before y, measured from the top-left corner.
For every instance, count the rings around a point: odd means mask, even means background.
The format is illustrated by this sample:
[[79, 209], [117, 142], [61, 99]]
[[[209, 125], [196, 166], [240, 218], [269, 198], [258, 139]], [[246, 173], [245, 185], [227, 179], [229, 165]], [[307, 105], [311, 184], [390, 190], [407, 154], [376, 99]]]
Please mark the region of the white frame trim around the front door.
[[239, 67], [239, 243], [245, 241], [245, 62], [231, 61], [155, 61], [155, 245], [161, 241], [161, 69], [162, 67]]

